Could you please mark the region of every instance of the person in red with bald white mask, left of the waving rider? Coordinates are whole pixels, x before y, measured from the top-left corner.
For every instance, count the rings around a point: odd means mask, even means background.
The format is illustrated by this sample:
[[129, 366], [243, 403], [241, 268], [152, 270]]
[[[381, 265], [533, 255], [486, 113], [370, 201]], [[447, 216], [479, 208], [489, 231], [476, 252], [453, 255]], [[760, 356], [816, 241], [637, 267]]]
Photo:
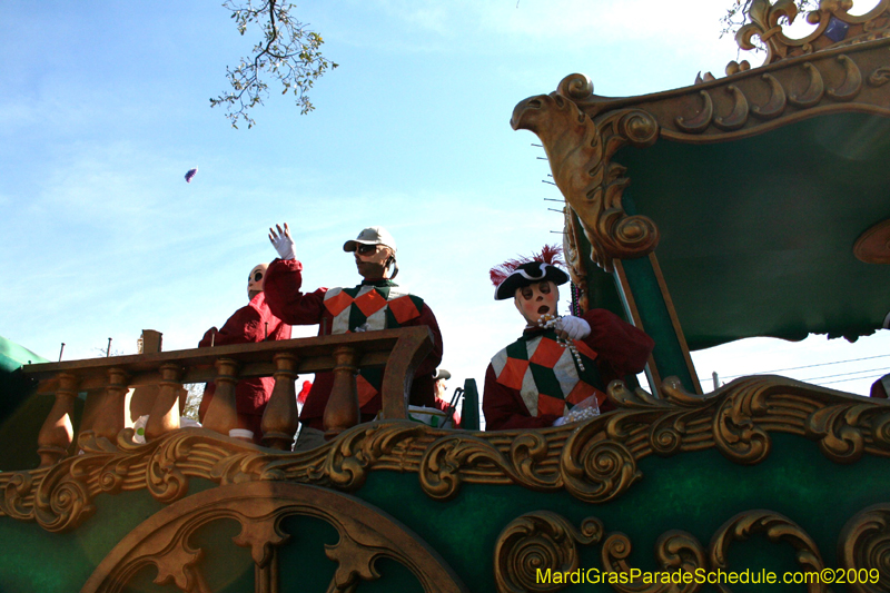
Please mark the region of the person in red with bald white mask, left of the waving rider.
[[[250, 302], [236, 310], [221, 328], [211, 327], [208, 329], [198, 343], [199, 348], [290, 339], [290, 326], [273, 315], [266, 304], [266, 295], [263, 288], [267, 267], [266, 264], [260, 264], [250, 270], [250, 275], [247, 278], [247, 297]], [[266, 404], [271, 396], [273, 387], [275, 387], [273, 377], [241, 379], [235, 386], [235, 409], [238, 414], [238, 428], [240, 431], [250, 431], [253, 433], [251, 438], [257, 444], [260, 443], [263, 437], [260, 423], [263, 422], [263, 412], [265, 412]], [[208, 383], [198, 408], [198, 417], [201, 422], [204, 422], [204, 416], [210, 407], [215, 392], [216, 385]]]

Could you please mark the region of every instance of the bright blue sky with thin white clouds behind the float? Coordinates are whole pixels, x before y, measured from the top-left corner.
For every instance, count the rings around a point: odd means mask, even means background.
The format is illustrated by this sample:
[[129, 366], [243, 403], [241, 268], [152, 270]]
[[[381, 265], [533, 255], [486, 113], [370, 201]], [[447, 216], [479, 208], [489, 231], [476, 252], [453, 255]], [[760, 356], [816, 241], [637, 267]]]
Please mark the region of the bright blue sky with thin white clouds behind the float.
[[[6, 0], [0, 335], [50, 359], [62, 342], [65, 359], [97, 356], [108, 337], [132, 354], [142, 328], [167, 350], [194, 347], [246, 304], [247, 273], [275, 257], [270, 225], [290, 225], [309, 289], [356, 284], [343, 241], [383, 225], [399, 280], [438, 317], [443, 366], [481, 382], [523, 325], [493, 300], [488, 268], [558, 240], [562, 225], [536, 137], [510, 128], [513, 107], [572, 72], [613, 97], [720, 76], [738, 59], [719, 39], [723, 3], [301, 2], [340, 67], [316, 83], [313, 113], [273, 89], [256, 127], [234, 130], [209, 98], [254, 39], [220, 2]], [[756, 340], [695, 359], [700, 376], [730, 376], [888, 346]], [[830, 386], [864, 393], [871, 380]]]

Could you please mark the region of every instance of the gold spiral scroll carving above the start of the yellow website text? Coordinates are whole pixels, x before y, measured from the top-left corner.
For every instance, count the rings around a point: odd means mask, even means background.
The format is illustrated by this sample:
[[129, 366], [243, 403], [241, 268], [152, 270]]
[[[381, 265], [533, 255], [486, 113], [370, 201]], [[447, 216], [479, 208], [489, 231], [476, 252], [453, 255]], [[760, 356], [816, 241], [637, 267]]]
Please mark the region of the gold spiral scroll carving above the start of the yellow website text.
[[494, 574], [497, 591], [554, 591], [563, 586], [542, 583], [536, 571], [572, 572], [578, 569], [576, 543], [599, 543], [603, 524], [587, 518], [581, 530], [550, 511], [528, 513], [510, 522], [497, 536]]

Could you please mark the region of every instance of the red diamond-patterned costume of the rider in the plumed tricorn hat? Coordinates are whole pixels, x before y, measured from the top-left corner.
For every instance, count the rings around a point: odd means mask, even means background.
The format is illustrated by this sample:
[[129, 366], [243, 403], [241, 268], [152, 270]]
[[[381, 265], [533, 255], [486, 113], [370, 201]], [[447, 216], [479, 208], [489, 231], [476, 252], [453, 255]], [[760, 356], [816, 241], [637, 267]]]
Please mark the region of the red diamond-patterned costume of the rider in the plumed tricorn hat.
[[542, 328], [527, 328], [492, 358], [482, 401], [486, 431], [552, 426], [590, 395], [596, 395], [603, 409], [610, 382], [643, 370], [655, 346], [651, 337], [606, 309], [582, 317], [591, 326], [587, 337], [575, 340], [584, 368], [565, 348], [561, 352], [551, 339], [555, 334]]

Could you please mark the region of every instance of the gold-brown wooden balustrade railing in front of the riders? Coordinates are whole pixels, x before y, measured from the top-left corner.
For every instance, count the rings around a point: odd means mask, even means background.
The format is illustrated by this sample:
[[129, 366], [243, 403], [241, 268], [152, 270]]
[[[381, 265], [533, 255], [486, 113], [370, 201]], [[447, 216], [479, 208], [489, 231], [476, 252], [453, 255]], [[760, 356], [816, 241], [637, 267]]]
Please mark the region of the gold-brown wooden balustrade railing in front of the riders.
[[115, 443], [126, 424], [128, 389], [159, 386], [146, 426], [146, 437], [152, 439], [179, 428], [179, 394], [184, 384], [212, 380], [217, 387], [204, 426], [228, 435], [236, 426], [238, 380], [273, 376], [275, 388], [263, 415], [264, 444], [289, 451], [297, 431], [294, 382], [298, 375], [334, 373], [334, 388], [324, 417], [326, 434], [332, 437], [358, 424], [355, 375], [360, 368], [385, 367], [380, 389], [383, 414], [387, 418], [407, 417], [414, 373], [432, 348], [432, 333], [421, 326], [42, 363], [24, 365], [22, 373], [39, 380], [38, 394], [56, 396], [38, 436], [42, 467], [63, 457], [73, 442], [71, 417], [78, 393], [87, 393], [80, 432], [91, 431]]

